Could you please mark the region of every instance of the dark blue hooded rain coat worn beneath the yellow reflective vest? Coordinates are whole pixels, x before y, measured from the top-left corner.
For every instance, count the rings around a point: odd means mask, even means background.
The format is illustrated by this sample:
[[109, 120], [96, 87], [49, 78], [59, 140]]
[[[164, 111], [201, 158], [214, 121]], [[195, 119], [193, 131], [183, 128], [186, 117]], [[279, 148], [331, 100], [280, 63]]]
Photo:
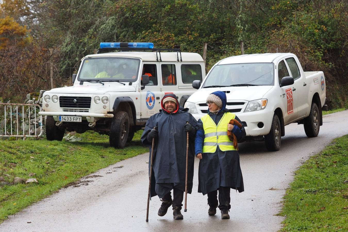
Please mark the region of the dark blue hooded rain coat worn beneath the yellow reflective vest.
[[[208, 109], [209, 116], [217, 125], [223, 114], [228, 112], [226, 109], [227, 99], [224, 92], [216, 91], [213, 94], [219, 96], [222, 100], [222, 108], [217, 114], [209, 112]], [[235, 119], [243, 125], [237, 116]], [[198, 153], [203, 154], [203, 158], [199, 160], [198, 192], [205, 195], [217, 190], [220, 186], [231, 187], [239, 192], [243, 192], [244, 184], [238, 151], [221, 151], [219, 146], [217, 146], [215, 153], [203, 153], [204, 129], [200, 119], [197, 122], [196, 129], [195, 153], [196, 155]], [[244, 126], [239, 133], [236, 133], [236, 137], [238, 140], [245, 137]]]

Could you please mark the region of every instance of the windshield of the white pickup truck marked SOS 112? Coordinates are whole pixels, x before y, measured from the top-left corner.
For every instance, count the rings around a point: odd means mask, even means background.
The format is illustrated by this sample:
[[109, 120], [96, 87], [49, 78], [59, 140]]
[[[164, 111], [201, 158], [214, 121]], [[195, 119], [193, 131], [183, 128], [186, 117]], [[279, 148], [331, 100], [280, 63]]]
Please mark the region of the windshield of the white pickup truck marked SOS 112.
[[205, 80], [203, 88], [253, 85], [274, 85], [273, 63], [216, 65]]

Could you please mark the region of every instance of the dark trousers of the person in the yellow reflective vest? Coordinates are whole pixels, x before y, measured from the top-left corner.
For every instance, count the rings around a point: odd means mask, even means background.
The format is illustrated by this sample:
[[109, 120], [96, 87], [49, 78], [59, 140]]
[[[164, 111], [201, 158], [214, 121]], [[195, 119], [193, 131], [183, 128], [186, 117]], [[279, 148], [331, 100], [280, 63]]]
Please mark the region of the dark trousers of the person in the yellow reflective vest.
[[[219, 202], [217, 202], [217, 191], [219, 190]], [[230, 187], [223, 187], [220, 186], [218, 190], [215, 190], [213, 192], [209, 192], [208, 195], [208, 205], [210, 207], [216, 207], [218, 203], [219, 209], [230, 209], [231, 205], [231, 197], [230, 197]]]

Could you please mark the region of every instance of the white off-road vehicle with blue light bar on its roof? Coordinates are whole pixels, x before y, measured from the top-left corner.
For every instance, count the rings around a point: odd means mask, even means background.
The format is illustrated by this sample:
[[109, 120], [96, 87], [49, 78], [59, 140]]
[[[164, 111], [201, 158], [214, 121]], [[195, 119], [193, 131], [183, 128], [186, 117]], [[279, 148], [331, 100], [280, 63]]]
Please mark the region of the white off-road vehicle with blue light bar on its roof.
[[161, 109], [165, 94], [174, 93], [184, 106], [195, 91], [192, 81], [205, 77], [197, 53], [157, 49], [153, 43], [100, 46], [98, 54], [82, 58], [73, 86], [44, 93], [39, 115], [47, 116], [48, 140], [61, 141], [65, 130], [94, 130], [109, 135], [111, 146], [123, 148]]

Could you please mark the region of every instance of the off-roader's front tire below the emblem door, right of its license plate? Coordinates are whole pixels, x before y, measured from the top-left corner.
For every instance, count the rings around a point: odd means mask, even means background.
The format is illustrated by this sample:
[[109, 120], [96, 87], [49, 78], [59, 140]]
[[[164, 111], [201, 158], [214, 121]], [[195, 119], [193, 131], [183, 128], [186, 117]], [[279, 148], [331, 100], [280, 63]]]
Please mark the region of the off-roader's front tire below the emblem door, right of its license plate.
[[109, 143], [115, 148], [126, 146], [129, 133], [129, 118], [124, 111], [117, 112], [111, 121]]

